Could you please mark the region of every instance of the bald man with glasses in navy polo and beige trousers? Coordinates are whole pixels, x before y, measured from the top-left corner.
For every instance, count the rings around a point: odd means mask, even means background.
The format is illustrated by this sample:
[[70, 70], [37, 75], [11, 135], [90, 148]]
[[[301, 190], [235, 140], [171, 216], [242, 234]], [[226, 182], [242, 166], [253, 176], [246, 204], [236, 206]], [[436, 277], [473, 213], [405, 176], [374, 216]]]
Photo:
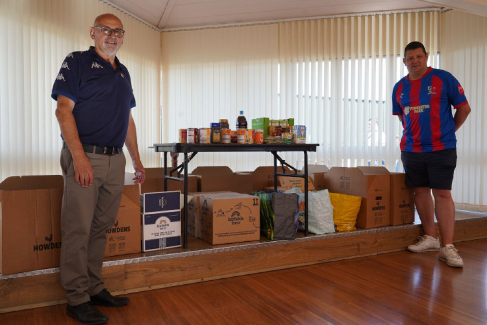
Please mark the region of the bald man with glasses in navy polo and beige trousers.
[[115, 56], [125, 31], [112, 14], [90, 27], [94, 46], [70, 53], [54, 82], [56, 118], [63, 148], [64, 194], [61, 210], [61, 284], [67, 315], [83, 324], [103, 324], [109, 317], [94, 305], [129, 303], [104, 287], [101, 274], [106, 230], [116, 221], [125, 179], [125, 145], [141, 184], [145, 170], [139, 156], [135, 107], [127, 68]]

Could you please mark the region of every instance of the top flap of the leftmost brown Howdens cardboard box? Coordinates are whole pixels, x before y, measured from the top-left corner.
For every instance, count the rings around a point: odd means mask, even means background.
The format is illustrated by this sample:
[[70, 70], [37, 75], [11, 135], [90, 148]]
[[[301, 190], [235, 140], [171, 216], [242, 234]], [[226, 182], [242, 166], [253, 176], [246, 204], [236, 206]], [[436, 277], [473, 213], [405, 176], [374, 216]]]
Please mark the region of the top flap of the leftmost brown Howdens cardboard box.
[[10, 176], [0, 183], [0, 191], [57, 189], [63, 186], [61, 175]]

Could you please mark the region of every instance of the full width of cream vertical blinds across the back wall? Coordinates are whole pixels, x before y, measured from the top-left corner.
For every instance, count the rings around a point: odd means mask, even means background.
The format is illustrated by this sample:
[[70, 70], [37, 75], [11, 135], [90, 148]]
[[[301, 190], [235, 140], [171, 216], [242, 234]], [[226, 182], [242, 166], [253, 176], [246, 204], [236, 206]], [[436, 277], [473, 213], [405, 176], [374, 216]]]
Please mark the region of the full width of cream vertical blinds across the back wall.
[[[164, 32], [166, 138], [178, 129], [252, 118], [294, 118], [318, 143], [309, 163], [384, 165], [402, 171], [392, 115], [394, 83], [407, 73], [405, 44], [419, 40], [437, 67], [439, 11], [276, 22], [257, 26]], [[369, 121], [372, 131], [369, 132]], [[234, 127], [233, 127], [234, 128]], [[282, 153], [302, 168], [302, 153]], [[271, 165], [265, 153], [198, 155], [191, 167], [234, 171]]]

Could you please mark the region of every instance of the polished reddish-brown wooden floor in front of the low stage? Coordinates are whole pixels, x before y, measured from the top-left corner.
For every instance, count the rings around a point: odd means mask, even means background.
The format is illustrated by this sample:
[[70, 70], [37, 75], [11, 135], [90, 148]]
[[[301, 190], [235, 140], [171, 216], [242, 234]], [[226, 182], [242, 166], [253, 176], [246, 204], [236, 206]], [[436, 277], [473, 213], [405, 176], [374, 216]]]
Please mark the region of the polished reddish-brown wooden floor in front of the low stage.
[[[487, 239], [438, 252], [396, 251], [127, 294], [109, 324], [486, 324]], [[1, 297], [0, 297], [1, 299]], [[77, 324], [66, 305], [0, 314], [0, 324]]]

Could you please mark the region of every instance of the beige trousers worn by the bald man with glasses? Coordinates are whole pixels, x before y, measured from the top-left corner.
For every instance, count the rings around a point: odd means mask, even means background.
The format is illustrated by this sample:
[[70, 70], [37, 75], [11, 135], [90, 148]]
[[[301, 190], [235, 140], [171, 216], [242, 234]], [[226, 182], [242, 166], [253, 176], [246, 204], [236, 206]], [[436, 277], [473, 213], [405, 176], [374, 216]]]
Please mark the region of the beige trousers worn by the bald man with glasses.
[[122, 197], [125, 155], [86, 153], [94, 171], [93, 185], [76, 183], [69, 149], [61, 150], [64, 193], [61, 209], [61, 285], [68, 304], [79, 305], [103, 289], [101, 268], [105, 231], [116, 221]]

